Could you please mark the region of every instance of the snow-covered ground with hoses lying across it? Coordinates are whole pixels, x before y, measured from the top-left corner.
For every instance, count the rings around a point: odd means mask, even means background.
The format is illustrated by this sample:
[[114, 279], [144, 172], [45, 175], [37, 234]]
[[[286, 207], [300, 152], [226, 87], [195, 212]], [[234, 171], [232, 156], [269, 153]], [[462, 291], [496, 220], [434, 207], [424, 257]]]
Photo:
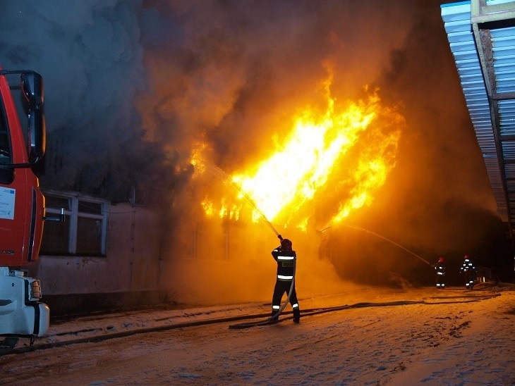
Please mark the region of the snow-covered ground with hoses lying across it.
[[[0, 356], [0, 381], [8, 385], [515, 384], [513, 286], [477, 287], [473, 292], [461, 287], [440, 291], [349, 287], [347, 292], [301, 297], [299, 302], [305, 312], [298, 325], [289, 319], [288, 306], [282, 323], [229, 328], [241, 323], [229, 319], [234, 316], [267, 318], [269, 304], [264, 303], [147, 309], [69, 320], [52, 325], [47, 336], [35, 342], [35, 347], [61, 346]], [[349, 307], [343, 307], [346, 304]], [[326, 311], [317, 312], [320, 307]], [[200, 320], [222, 321], [187, 326]], [[114, 338], [86, 342], [95, 337]], [[23, 351], [27, 346], [20, 341], [18, 347]]]

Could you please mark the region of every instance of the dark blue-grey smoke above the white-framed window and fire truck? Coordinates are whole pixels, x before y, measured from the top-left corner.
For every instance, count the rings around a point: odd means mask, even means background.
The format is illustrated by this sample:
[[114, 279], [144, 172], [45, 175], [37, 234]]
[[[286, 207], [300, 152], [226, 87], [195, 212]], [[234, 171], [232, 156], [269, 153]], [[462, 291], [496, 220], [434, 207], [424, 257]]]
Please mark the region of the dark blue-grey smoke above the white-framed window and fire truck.
[[164, 163], [162, 150], [145, 141], [136, 109], [148, 82], [141, 6], [140, 1], [2, 4], [1, 66], [30, 68], [44, 77], [49, 144], [43, 187], [126, 201], [133, 185], [159, 180], [150, 175]]

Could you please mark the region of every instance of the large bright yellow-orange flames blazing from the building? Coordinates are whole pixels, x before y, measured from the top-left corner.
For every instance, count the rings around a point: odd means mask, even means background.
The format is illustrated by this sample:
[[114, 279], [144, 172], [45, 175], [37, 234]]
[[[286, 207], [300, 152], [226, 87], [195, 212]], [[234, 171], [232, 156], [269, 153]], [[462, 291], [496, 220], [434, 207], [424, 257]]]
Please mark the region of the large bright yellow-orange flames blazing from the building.
[[[318, 216], [317, 226], [334, 225], [370, 205], [386, 182], [395, 165], [403, 118], [382, 107], [377, 93], [365, 101], [339, 106], [331, 97], [331, 84], [329, 76], [323, 83], [325, 111], [305, 108], [293, 120], [289, 134], [275, 141], [276, 147], [255, 171], [225, 176], [236, 186], [238, 199], [253, 204], [253, 220], [265, 217], [285, 226], [294, 221], [296, 228], [305, 230], [315, 208], [323, 208], [325, 214]], [[199, 173], [205, 170], [202, 146], [192, 156]], [[225, 197], [218, 209], [207, 197], [202, 206], [208, 216], [219, 213], [232, 219], [240, 218], [242, 208], [241, 204], [229, 204]]]

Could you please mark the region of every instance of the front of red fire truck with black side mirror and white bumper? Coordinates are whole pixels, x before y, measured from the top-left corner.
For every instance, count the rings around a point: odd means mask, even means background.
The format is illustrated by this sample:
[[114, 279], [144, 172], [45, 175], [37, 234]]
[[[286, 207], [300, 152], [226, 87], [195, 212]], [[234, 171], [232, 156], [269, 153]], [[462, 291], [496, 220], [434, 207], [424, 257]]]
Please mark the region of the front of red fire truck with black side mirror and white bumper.
[[[18, 76], [19, 85], [16, 82], [11, 89], [8, 77]], [[26, 130], [18, 118], [20, 101], [13, 98], [17, 93], [27, 116]], [[40, 253], [45, 216], [44, 197], [32, 171], [45, 151], [42, 105], [40, 74], [0, 68], [0, 346], [4, 347], [16, 346], [20, 337], [32, 343], [49, 327], [49, 308], [40, 302], [40, 280], [27, 277]]]

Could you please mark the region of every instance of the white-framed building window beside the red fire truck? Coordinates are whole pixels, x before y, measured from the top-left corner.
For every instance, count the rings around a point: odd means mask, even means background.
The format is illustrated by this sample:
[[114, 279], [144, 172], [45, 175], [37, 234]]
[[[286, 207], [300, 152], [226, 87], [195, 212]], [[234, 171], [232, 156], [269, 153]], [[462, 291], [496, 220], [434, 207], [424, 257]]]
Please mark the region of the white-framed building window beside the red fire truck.
[[[62, 192], [44, 192], [42, 255], [105, 256], [109, 201]], [[54, 221], [64, 213], [64, 222]]]

